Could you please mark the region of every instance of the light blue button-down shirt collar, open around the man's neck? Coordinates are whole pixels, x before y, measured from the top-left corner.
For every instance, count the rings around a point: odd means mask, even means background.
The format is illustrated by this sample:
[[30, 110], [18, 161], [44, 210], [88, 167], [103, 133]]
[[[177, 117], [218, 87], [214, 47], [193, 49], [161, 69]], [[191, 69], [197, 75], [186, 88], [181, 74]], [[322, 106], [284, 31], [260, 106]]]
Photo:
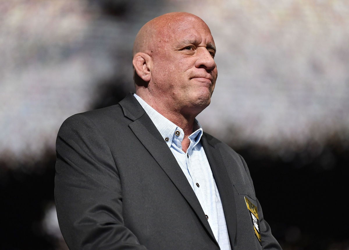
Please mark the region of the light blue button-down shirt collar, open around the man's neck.
[[[161, 115], [155, 109], [153, 109], [148, 103], [146, 103], [141, 97], [133, 94], [137, 101], [141, 104], [144, 111], [154, 123], [157, 130], [160, 132], [162, 138], [165, 140], [167, 146], [171, 147], [172, 141], [174, 143], [180, 144], [184, 138], [183, 129], [178, 127], [176, 124], [172, 123], [169, 119]], [[192, 147], [194, 147], [201, 139], [202, 127], [198, 120], [195, 119], [194, 132], [189, 136], [189, 139], [193, 142]], [[180, 145], [177, 145], [178, 147]], [[181, 146], [180, 146], [181, 148]]]

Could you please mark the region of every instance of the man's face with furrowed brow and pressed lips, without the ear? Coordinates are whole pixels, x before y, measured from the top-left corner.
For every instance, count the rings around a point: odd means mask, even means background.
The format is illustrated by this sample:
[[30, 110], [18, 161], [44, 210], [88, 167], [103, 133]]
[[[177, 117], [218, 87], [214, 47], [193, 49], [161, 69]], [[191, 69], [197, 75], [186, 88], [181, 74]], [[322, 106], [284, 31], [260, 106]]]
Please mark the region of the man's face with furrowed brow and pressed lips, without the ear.
[[217, 79], [209, 28], [200, 19], [185, 19], [156, 42], [157, 49], [150, 54], [153, 96], [182, 112], [201, 112], [210, 103]]

